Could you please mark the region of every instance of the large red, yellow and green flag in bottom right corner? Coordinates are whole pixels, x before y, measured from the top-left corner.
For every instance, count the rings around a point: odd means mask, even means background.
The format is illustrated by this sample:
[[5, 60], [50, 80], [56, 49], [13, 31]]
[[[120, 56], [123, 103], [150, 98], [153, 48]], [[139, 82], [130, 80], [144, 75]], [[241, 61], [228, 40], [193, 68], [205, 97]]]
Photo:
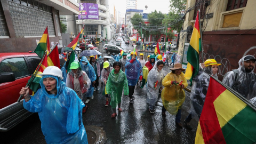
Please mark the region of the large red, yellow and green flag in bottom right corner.
[[247, 105], [220, 83], [211, 77], [195, 143], [255, 143], [255, 106]]

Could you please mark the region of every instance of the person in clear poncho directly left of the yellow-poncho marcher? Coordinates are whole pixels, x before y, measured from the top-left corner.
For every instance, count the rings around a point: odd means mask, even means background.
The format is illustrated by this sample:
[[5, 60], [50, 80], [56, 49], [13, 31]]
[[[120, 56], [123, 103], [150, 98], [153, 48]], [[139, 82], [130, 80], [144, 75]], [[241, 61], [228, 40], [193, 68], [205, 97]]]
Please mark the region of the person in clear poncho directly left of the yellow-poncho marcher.
[[158, 61], [156, 67], [148, 73], [147, 83], [147, 103], [149, 103], [149, 112], [155, 113], [155, 104], [158, 98], [158, 90], [163, 90], [162, 80], [164, 78], [164, 62]]

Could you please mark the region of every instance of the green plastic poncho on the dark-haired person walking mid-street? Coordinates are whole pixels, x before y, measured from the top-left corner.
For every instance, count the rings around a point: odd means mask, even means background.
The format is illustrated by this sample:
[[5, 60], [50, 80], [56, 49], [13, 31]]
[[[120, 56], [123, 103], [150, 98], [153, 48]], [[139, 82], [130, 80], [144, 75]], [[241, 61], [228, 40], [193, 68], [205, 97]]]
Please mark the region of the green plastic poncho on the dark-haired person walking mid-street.
[[124, 95], [129, 94], [128, 82], [124, 72], [120, 70], [118, 74], [115, 74], [114, 71], [115, 69], [109, 74], [106, 85], [107, 93], [111, 97], [110, 105], [112, 108], [116, 108], [118, 103], [121, 103], [123, 90]]

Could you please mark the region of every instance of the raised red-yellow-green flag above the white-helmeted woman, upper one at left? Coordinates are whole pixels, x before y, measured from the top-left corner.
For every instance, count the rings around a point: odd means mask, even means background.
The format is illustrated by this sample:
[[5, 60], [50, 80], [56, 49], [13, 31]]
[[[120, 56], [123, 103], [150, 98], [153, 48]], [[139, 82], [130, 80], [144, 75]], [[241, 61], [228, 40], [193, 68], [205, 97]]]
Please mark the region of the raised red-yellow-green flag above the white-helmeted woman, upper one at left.
[[36, 49], [34, 52], [39, 56], [39, 58], [42, 59], [44, 57], [45, 51], [47, 50], [47, 47], [50, 48], [48, 27], [45, 28], [44, 34], [43, 34], [42, 38], [40, 39], [38, 45], [36, 46]]

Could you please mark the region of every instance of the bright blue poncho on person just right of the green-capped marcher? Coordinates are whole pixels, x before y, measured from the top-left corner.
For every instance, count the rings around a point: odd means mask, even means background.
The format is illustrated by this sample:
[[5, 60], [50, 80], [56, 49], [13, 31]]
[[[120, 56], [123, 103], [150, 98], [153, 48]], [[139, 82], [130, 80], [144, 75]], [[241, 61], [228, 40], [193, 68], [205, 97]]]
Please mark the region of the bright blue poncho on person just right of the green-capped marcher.
[[[83, 64], [83, 62], [87, 62], [86, 65]], [[93, 82], [97, 79], [94, 68], [92, 67], [92, 65], [89, 63], [89, 61], [87, 60], [86, 57], [82, 57], [82, 60], [80, 61], [81, 64], [81, 68], [82, 70], [85, 71], [85, 73], [87, 74], [87, 76], [90, 78], [91, 80], [91, 85], [90, 85], [90, 89], [88, 90], [88, 92], [86, 93], [86, 97], [92, 97], [93, 95], [93, 91], [94, 91], [94, 87], [92, 86]]]

